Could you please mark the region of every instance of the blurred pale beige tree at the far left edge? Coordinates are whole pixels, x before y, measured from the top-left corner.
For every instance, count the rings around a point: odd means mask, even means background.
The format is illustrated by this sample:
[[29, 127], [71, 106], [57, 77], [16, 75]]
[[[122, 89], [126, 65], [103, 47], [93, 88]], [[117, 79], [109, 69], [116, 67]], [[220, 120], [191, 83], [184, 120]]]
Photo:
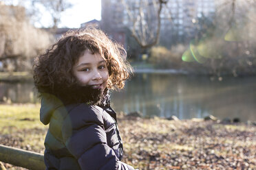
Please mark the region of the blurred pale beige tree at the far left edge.
[[6, 71], [30, 69], [32, 58], [53, 42], [52, 35], [30, 25], [21, 6], [0, 5], [0, 16], [0, 62]]

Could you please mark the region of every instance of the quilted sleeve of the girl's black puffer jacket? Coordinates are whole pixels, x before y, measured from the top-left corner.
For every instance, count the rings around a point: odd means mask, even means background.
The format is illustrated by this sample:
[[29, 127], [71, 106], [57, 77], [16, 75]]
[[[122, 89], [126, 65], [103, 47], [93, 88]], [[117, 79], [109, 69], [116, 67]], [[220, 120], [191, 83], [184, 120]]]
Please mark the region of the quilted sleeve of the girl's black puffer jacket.
[[63, 139], [67, 149], [83, 170], [134, 170], [120, 162], [107, 145], [102, 110], [85, 104], [74, 108], [63, 122]]

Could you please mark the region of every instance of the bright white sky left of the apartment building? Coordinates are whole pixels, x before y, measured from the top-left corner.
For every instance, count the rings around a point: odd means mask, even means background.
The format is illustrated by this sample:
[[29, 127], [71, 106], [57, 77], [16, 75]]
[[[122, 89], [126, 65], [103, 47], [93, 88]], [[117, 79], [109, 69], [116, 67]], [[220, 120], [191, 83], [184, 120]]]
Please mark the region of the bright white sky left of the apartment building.
[[[74, 5], [63, 13], [61, 23], [58, 25], [59, 27], [75, 28], [80, 27], [81, 23], [85, 23], [93, 19], [101, 19], [101, 0], [72, 0], [70, 2]], [[45, 26], [50, 24], [49, 21], [50, 16], [45, 14], [41, 23]]]

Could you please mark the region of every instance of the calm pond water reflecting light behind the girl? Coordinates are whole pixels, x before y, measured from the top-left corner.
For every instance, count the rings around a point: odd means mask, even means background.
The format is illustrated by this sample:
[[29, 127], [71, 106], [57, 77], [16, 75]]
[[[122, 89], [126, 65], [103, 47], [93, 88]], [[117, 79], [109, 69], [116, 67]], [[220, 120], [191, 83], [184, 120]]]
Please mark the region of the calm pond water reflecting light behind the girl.
[[[32, 82], [0, 82], [0, 101], [36, 103]], [[242, 121], [256, 120], [256, 77], [209, 77], [138, 73], [125, 89], [111, 93], [117, 111], [141, 112], [145, 117], [203, 118], [209, 114]]]

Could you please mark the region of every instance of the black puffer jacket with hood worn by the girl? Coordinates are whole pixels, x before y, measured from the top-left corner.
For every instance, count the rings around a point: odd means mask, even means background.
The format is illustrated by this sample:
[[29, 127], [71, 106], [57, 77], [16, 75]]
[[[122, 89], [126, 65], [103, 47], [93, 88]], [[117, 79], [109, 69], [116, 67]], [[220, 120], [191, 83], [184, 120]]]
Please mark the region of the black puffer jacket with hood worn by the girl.
[[120, 162], [122, 140], [110, 106], [63, 106], [51, 95], [41, 101], [40, 118], [49, 123], [45, 137], [47, 169], [133, 170]]

